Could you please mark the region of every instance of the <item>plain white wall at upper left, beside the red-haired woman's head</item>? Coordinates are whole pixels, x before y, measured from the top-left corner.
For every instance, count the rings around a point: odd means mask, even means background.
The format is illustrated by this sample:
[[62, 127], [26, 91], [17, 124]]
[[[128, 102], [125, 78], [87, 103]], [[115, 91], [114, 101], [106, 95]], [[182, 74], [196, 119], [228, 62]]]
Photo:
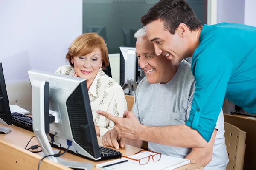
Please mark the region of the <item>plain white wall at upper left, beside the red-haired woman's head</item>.
[[28, 79], [31, 68], [54, 72], [82, 34], [82, 0], [0, 0], [0, 25], [7, 82]]

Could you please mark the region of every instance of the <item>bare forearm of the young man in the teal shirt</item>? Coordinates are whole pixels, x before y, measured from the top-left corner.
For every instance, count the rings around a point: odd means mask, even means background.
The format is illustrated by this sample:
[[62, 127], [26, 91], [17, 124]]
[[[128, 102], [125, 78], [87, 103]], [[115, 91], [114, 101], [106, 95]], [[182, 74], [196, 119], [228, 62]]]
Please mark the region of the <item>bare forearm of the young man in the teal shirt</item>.
[[143, 125], [139, 130], [138, 139], [172, 147], [205, 147], [207, 141], [186, 125], [150, 127]]

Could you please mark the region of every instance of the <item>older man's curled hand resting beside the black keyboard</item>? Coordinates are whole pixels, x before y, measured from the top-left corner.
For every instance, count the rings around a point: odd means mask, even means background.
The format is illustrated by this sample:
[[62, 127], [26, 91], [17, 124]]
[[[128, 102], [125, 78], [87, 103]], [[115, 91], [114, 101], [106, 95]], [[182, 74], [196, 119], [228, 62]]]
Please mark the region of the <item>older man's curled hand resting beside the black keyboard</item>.
[[126, 138], [120, 137], [115, 129], [111, 129], [102, 136], [103, 146], [110, 146], [116, 149], [119, 147], [124, 148], [126, 143]]

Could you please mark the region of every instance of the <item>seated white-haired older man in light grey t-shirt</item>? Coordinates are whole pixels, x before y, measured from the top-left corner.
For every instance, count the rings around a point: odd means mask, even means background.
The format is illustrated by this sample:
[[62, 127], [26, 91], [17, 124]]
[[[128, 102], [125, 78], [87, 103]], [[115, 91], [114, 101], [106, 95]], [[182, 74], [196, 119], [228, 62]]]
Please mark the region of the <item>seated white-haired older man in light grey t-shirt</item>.
[[[191, 65], [186, 61], [180, 62], [179, 65], [172, 65], [165, 56], [156, 56], [154, 45], [145, 37], [144, 28], [140, 29], [135, 37], [137, 37], [138, 62], [146, 77], [137, 86], [132, 113], [142, 125], [147, 127], [184, 125], [189, 118], [195, 90]], [[225, 170], [228, 157], [222, 111], [215, 129], [212, 139], [204, 148], [171, 147], [157, 142], [148, 142], [148, 148], [168, 156], [187, 158], [192, 162], [195, 160], [196, 163], [204, 165], [204, 170]], [[172, 132], [166, 131], [162, 137], [167, 140], [170, 133]], [[155, 138], [154, 136], [157, 134], [152, 137]], [[160, 143], [163, 140], [154, 141]], [[137, 139], [120, 139], [115, 129], [108, 131], [102, 137], [102, 143], [107, 146], [116, 147], [116, 143], [119, 142], [123, 147], [122, 141], [136, 147], [142, 145], [142, 141]], [[168, 142], [165, 143], [168, 144]]]

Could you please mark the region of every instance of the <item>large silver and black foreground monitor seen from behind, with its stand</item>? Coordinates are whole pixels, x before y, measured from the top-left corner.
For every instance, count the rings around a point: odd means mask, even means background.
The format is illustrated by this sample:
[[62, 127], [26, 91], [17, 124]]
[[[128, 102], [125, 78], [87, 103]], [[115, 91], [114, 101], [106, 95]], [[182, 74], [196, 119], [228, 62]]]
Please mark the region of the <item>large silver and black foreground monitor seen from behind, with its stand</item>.
[[[28, 74], [32, 85], [33, 130], [44, 155], [54, 154], [49, 144], [51, 142], [49, 134], [53, 134], [53, 144], [58, 147], [67, 149], [68, 141], [71, 141], [69, 150], [73, 153], [93, 160], [101, 159], [86, 80], [36, 70], [30, 70]], [[49, 110], [45, 107], [44, 101], [46, 82], [49, 82]], [[48, 135], [42, 130], [44, 129], [42, 122], [47, 111], [55, 118], [54, 122], [49, 123]], [[92, 164], [85, 162], [74, 164], [53, 156], [49, 159], [67, 167], [87, 167], [87, 169], [93, 167]]]

